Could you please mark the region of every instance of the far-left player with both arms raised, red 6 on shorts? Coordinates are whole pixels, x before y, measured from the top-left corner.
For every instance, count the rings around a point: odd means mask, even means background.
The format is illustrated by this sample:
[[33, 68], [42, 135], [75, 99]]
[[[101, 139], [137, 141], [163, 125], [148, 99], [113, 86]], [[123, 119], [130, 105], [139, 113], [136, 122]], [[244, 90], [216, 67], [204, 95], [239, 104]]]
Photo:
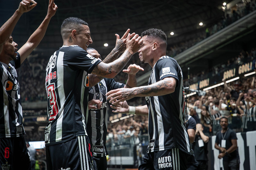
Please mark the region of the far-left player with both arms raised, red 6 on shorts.
[[[32, 3], [30, 5], [30, 3]], [[48, 12], [37, 30], [29, 40], [17, 51], [11, 36], [14, 26], [24, 12], [36, 6], [33, 0], [23, 0], [18, 10], [0, 28], [0, 75], [1, 75], [1, 115], [0, 115], [0, 166], [2, 169], [30, 169], [30, 158], [23, 135], [22, 108], [20, 85], [16, 69], [28, 57], [43, 39], [50, 19], [54, 16], [57, 6], [49, 1]], [[17, 51], [17, 52], [16, 52]]]

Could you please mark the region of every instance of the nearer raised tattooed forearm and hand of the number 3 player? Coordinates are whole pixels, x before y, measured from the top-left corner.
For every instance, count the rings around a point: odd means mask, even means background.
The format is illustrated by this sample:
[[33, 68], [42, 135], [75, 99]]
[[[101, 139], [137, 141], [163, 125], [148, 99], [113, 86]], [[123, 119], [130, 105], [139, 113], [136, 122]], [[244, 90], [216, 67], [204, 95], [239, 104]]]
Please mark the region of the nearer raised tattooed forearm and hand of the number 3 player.
[[105, 78], [114, 78], [128, 63], [131, 56], [141, 48], [142, 44], [143, 40], [141, 40], [141, 37], [138, 34], [135, 34], [131, 38], [131, 34], [128, 33], [126, 40], [126, 50], [124, 53], [111, 63], [99, 63], [93, 69], [92, 74], [96, 74]]

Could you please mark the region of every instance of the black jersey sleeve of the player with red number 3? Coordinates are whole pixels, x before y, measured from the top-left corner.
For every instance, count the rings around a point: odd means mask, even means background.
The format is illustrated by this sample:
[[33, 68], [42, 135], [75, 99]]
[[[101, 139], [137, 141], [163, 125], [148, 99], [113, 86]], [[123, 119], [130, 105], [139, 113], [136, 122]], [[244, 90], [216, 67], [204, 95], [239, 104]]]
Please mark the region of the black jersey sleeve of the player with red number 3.
[[75, 46], [69, 48], [66, 56], [67, 64], [73, 70], [86, 70], [91, 73], [94, 67], [101, 62], [100, 59], [92, 57], [83, 48]]

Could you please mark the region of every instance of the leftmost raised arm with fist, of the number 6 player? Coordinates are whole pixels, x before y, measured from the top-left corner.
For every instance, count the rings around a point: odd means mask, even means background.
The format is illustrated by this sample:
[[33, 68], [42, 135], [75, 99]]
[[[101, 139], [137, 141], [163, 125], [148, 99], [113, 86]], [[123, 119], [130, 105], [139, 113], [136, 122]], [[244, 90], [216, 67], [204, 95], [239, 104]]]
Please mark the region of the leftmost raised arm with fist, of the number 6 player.
[[[32, 3], [32, 5], [30, 5]], [[9, 18], [3, 26], [0, 28], [0, 53], [3, 50], [3, 44], [7, 38], [12, 34], [12, 31], [24, 12], [32, 10], [37, 3], [33, 0], [23, 0], [20, 2], [19, 8], [14, 12], [11, 18]]]

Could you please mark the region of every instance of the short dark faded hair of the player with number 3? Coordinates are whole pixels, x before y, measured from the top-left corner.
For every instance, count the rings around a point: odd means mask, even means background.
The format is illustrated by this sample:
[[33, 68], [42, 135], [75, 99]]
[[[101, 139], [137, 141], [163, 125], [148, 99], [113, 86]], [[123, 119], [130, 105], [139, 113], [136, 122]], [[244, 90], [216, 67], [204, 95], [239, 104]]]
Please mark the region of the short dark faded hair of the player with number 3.
[[76, 17], [69, 17], [64, 19], [61, 25], [61, 35], [62, 38], [65, 37], [67, 32], [70, 32], [72, 30], [77, 30], [78, 32], [82, 28], [82, 25], [88, 26], [88, 23], [85, 22], [83, 19], [76, 18]]

